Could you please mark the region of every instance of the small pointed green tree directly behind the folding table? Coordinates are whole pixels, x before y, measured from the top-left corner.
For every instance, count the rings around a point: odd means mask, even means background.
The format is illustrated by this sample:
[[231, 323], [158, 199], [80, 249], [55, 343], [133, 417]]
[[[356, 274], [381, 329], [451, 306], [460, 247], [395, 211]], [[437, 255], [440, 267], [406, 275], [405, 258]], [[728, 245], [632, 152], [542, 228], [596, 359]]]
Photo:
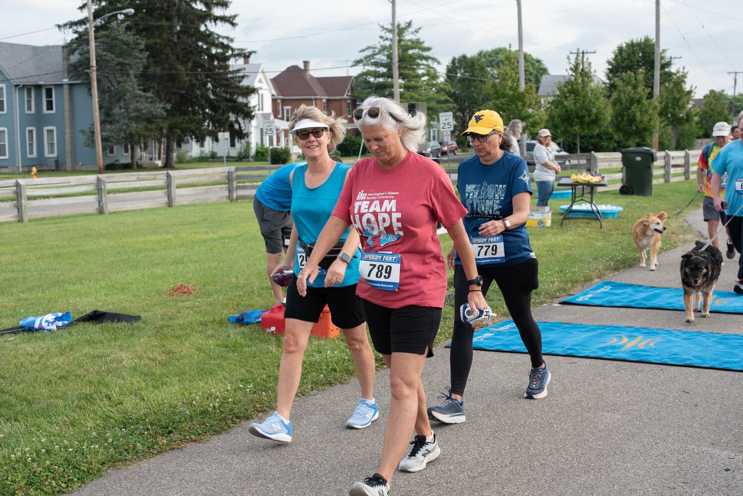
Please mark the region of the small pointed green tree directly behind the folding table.
[[[574, 143], [580, 153], [581, 140], [585, 145], [606, 141], [609, 130], [609, 102], [606, 90], [594, 84], [591, 62], [576, 54], [570, 61], [570, 78], [557, 85], [557, 94], [550, 99], [547, 109], [547, 125], [567, 142]], [[572, 148], [572, 147], [571, 147]]]

